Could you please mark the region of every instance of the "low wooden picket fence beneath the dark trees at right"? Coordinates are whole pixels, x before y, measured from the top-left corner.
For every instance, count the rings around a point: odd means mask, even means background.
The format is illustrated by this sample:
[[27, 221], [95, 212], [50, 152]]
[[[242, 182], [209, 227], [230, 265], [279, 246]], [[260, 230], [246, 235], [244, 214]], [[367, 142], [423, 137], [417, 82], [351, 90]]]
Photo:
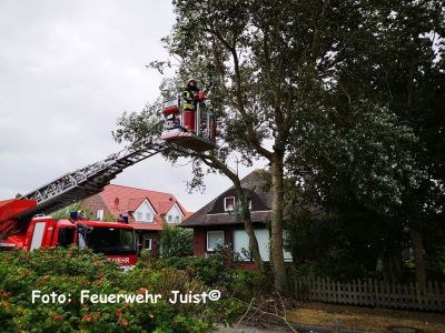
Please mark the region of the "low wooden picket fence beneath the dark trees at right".
[[419, 287], [414, 283], [376, 280], [344, 283], [309, 276], [294, 282], [293, 292], [300, 301], [445, 312], [445, 283], [428, 282]]

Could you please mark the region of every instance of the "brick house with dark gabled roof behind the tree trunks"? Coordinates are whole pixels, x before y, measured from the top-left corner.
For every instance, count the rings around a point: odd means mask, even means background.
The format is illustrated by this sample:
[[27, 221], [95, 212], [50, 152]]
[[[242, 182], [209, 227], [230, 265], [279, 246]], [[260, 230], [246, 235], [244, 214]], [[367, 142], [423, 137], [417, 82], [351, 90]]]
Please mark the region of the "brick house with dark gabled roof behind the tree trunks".
[[[269, 261], [270, 232], [267, 226], [270, 222], [271, 202], [270, 194], [264, 191], [265, 176], [267, 176], [265, 171], [255, 170], [241, 180], [241, 185], [251, 191], [250, 219], [261, 259]], [[194, 229], [194, 255], [211, 254], [217, 244], [228, 244], [240, 254], [244, 266], [255, 266], [251, 258], [246, 255], [249, 238], [236, 213], [237, 203], [235, 188], [231, 186], [180, 224], [182, 228]], [[285, 260], [291, 261], [287, 252]]]

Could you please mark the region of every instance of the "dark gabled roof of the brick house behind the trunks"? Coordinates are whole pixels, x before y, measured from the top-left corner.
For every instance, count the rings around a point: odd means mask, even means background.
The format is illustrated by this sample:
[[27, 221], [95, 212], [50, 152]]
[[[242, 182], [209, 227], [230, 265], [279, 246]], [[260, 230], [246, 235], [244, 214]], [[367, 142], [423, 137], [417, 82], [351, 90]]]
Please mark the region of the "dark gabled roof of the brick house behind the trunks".
[[[265, 189], [268, 176], [268, 173], [264, 170], [254, 170], [241, 179], [241, 186], [253, 191], [253, 209], [250, 212], [253, 223], [270, 220], [271, 200], [270, 194]], [[243, 223], [236, 213], [222, 213], [220, 209], [224, 198], [234, 195], [235, 186], [230, 186], [179, 225], [187, 228]]]

